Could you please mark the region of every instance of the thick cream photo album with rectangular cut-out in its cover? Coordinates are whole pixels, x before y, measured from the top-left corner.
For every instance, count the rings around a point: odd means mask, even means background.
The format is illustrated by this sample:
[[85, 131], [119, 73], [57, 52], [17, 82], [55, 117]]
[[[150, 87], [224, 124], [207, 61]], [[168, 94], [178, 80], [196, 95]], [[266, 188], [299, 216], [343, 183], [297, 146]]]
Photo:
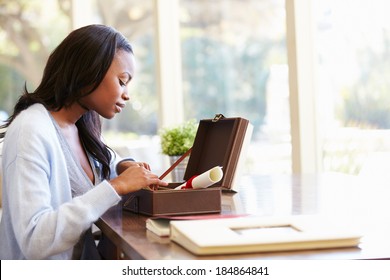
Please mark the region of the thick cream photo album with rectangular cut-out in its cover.
[[310, 216], [170, 222], [170, 239], [195, 255], [355, 247], [358, 231]]

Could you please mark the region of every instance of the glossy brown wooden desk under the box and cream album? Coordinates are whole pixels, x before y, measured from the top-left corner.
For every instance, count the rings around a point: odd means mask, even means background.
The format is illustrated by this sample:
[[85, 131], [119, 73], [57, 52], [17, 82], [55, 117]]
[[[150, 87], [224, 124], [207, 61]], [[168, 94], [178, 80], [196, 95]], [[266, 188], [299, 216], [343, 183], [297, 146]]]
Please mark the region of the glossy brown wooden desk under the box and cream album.
[[112, 245], [108, 258], [130, 259], [390, 259], [390, 183], [341, 174], [244, 177], [224, 193], [222, 213], [346, 217], [364, 233], [357, 248], [198, 257], [145, 228], [143, 215], [114, 207], [97, 226]]

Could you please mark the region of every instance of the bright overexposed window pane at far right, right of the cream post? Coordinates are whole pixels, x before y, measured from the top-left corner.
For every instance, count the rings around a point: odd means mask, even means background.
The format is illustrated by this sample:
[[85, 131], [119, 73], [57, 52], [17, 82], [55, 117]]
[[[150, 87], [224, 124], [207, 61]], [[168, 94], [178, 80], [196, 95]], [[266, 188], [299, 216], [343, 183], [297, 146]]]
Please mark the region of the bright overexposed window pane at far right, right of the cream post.
[[390, 4], [316, 3], [324, 170], [378, 172], [390, 155]]

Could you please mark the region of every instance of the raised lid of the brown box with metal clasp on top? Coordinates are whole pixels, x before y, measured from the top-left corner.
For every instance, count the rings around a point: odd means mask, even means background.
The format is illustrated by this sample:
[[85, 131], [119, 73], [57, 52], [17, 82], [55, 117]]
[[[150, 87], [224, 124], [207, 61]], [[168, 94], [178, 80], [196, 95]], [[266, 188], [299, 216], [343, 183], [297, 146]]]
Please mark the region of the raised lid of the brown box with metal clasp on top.
[[211, 187], [237, 191], [236, 179], [245, 159], [252, 130], [252, 125], [244, 118], [225, 118], [218, 114], [214, 119], [201, 120], [184, 180], [187, 181], [215, 166], [222, 166], [222, 180]]

